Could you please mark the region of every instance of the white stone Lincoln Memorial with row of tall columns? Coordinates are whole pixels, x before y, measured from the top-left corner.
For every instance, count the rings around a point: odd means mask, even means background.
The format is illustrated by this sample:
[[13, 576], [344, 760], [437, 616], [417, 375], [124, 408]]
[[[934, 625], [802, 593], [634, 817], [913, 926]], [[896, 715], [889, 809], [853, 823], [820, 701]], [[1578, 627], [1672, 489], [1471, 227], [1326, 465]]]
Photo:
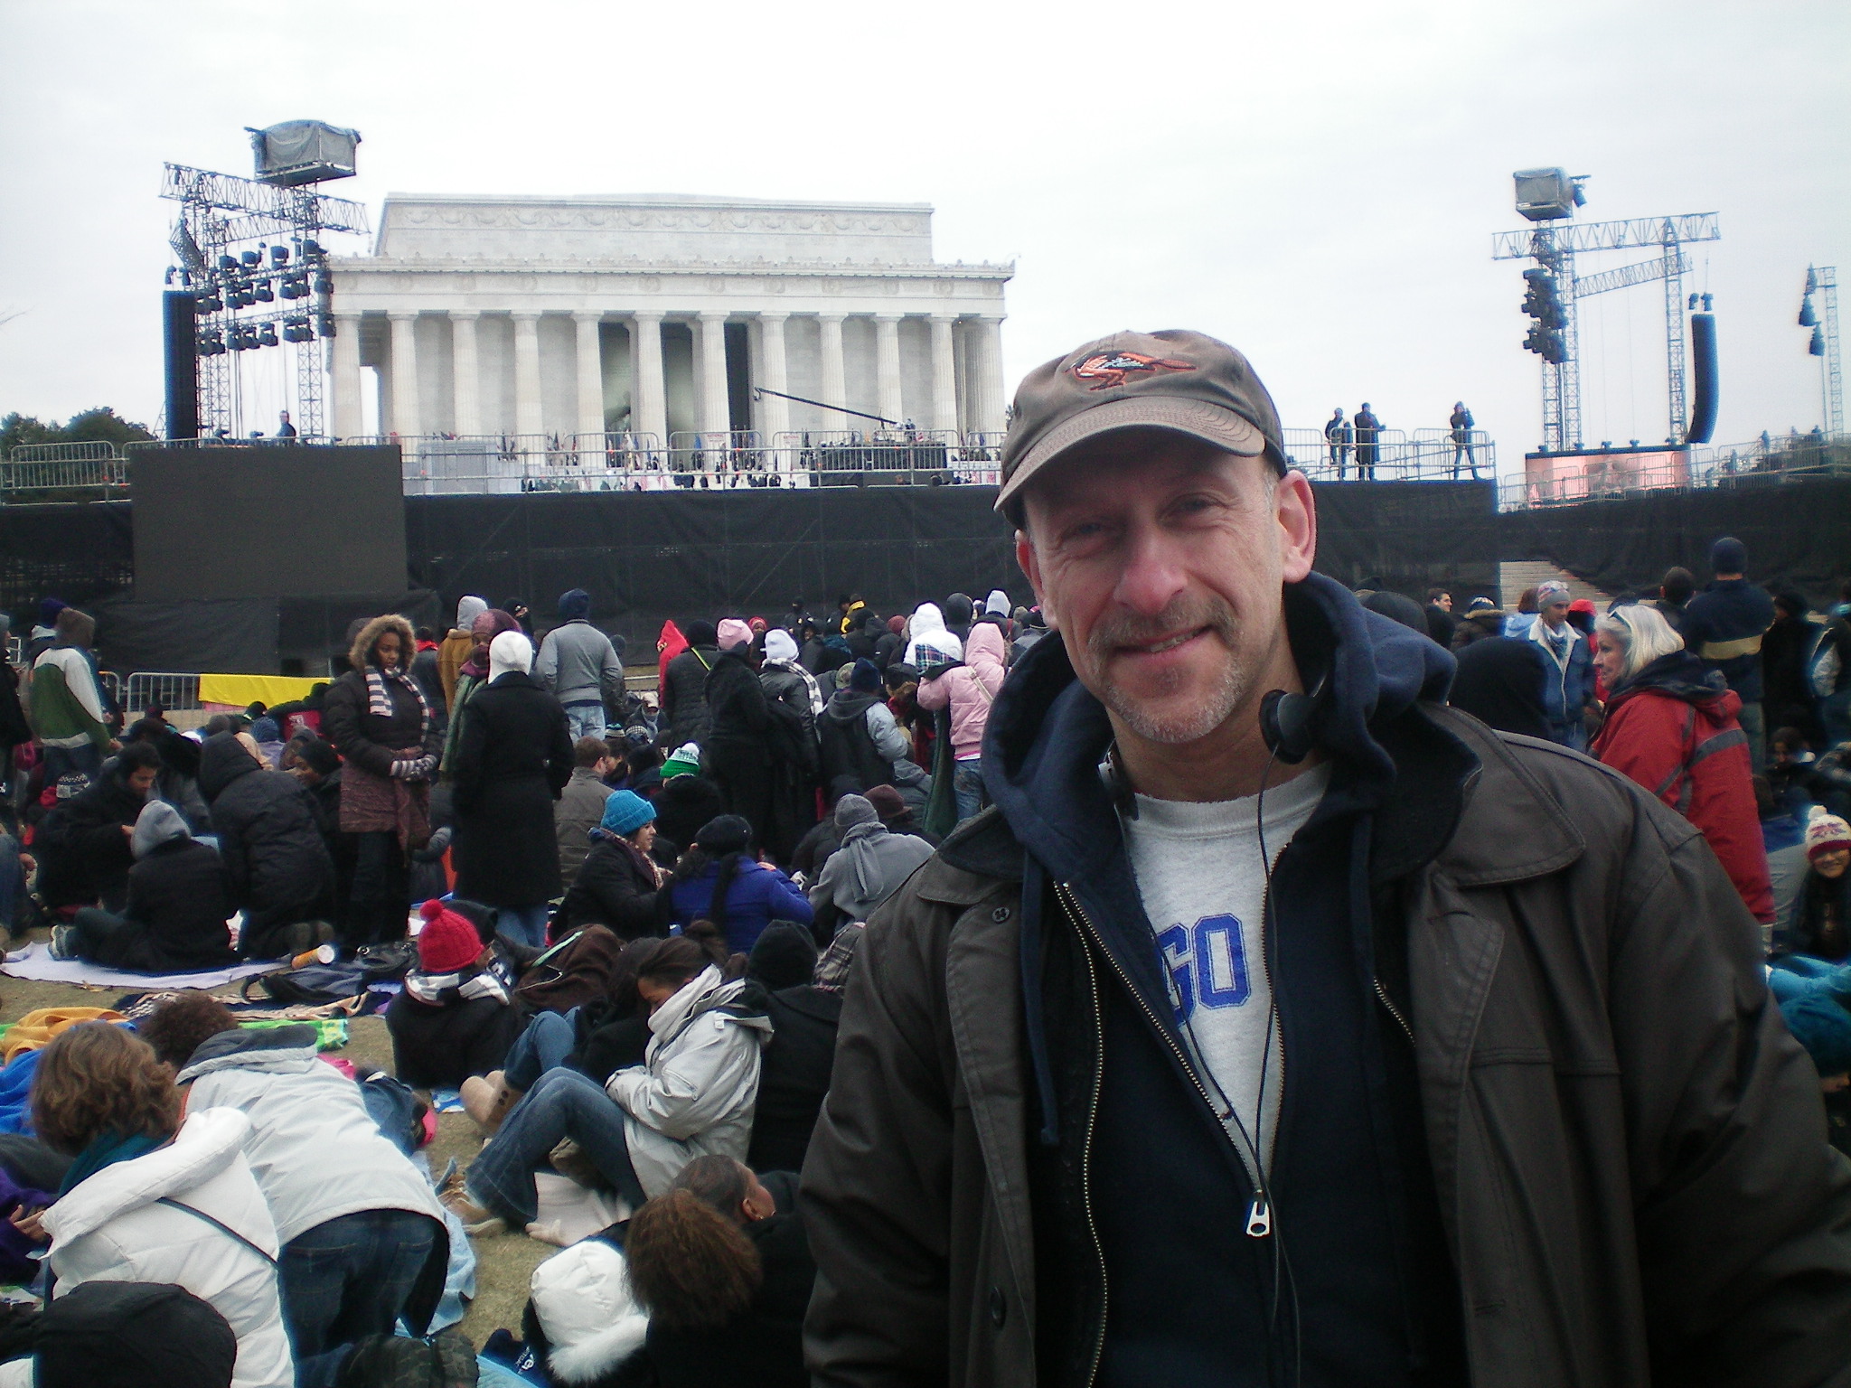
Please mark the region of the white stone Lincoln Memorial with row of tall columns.
[[553, 457], [983, 446], [1012, 272], [937, 263], [924, 204], [394, 194], [376, 254], [333, 261], [333, 433]]

